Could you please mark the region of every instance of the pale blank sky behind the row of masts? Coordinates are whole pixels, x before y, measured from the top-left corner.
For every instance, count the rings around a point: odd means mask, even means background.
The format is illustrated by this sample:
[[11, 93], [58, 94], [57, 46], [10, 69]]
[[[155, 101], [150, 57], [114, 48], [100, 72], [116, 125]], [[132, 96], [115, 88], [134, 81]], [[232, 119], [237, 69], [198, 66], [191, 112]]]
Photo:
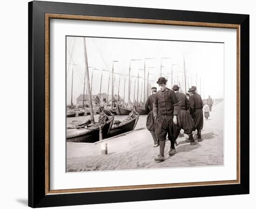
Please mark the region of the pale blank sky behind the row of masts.
[[[192, 85], [197, 86], [202, 98], [223, 98], [224, 95], [224, 44], [187, 42], [171, 40], [117, 39], [86, 37], [86, 49], [89, 66], [89, 79], [93, 72], [92, 94], [100, 92], [111, 94], [112, 65], [114, 63], [115, 81], [114, 94], [119, 92], [128, 101], [128, 72], [131, 63], [131, 101], [137, 99], [137, 76], [139, 72], [139, 100], [144, 97], [144, 64], [146, 78], [149, 72], [149, 85], [158, 87], [156, 81], [160, 77], [162, 61], [162, 77], [168, 79], [167, 86], [177, 84], [185, 90], [184, 64], [186, 74], [186, 90]], [[71, 103], [71, 83], [73, 72], [73, 104], [83, 93], [85, 74], [84, 38], [67, 36], [67, 104]], [[153, 59], [145, 59], [153, 58]], [[167, 58], [167, 59], [166, 59]], [[131, 59], [140, 59], [130, 61]], [[145, 63], [144, 63], [145, 62]], [[96, 69], [96, 70], [95, 70]], [[104, 71], [102, 71], [104, 70]], [[173, 72], [173, 77], [171, 77]], [[197, 79], [196, 79], [197, 78]], [[178, 80], [178, 82], [177, 82]], [[136, 82], [136, 83], [135, 83]], [[147, 89], [147, 84], [146, 84]], [[134, 94], [135, 90], [135, 94]], [[147, 91], [147, 90], [146, 90]]]

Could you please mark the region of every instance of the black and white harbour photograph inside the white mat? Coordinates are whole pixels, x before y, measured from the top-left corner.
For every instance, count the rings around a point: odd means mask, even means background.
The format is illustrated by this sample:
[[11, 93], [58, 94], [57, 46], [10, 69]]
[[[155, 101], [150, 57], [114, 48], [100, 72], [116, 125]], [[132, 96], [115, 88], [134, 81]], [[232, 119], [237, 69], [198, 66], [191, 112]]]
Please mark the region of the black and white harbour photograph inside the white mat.
[[66, 172], [223, 166], [224, 43], [66, 36], [65, 108]]

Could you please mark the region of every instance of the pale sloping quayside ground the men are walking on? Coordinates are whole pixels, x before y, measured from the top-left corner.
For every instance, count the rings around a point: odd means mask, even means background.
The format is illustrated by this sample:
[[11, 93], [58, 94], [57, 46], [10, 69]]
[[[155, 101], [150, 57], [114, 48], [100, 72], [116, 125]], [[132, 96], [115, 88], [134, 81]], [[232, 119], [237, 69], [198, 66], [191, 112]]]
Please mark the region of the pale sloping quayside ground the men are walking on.
[[223, 101], [213, 106], [209, 120], [204, 120], [202, 139], [199, 144], [190, 145], [182, 134], [172, 157], [168, 156], [167, 141], [167, 159], [160, 163], [154, 161], [159, 147], [153, 147], [146, 129], [102, 141], [108, 144], [108, 155], [101, 155], [101, 143], [67, 143], [67, 172], [223, 165]]

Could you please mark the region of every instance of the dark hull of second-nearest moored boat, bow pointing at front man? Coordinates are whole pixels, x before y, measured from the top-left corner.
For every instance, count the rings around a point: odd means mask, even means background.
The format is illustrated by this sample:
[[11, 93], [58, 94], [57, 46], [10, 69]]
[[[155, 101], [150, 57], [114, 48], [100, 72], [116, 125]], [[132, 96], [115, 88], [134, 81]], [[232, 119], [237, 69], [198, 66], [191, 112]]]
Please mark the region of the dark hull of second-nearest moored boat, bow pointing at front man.
[[125, 119], [118, 125], [113, 124], [111, 130], [108, 133], [108, 137], [114, 137], [128, 131], [133, 131], [136, 127], [138, 119], [139, 114], [134, 114], [131, 117], [129, 116], [129, 118]]

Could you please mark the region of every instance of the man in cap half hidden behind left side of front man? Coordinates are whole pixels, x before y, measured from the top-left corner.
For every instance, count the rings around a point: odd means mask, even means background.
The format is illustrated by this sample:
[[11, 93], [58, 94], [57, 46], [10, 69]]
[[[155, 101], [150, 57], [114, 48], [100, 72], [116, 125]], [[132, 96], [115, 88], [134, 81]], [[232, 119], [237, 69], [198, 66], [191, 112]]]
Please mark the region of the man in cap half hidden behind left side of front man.
[[146, 127], [153, 137], [154, 147], [157, 147], [159, 146], [159, 141], [155, 134], [154, 115], [153, 115], [153, 103], [155, 100], [156, 87], [152, 87], [151, 91], [152, 91], [152, 94], [148, 97], [145, 104], [145, 109], [147, 112], [149, 112], [147, 117]]

